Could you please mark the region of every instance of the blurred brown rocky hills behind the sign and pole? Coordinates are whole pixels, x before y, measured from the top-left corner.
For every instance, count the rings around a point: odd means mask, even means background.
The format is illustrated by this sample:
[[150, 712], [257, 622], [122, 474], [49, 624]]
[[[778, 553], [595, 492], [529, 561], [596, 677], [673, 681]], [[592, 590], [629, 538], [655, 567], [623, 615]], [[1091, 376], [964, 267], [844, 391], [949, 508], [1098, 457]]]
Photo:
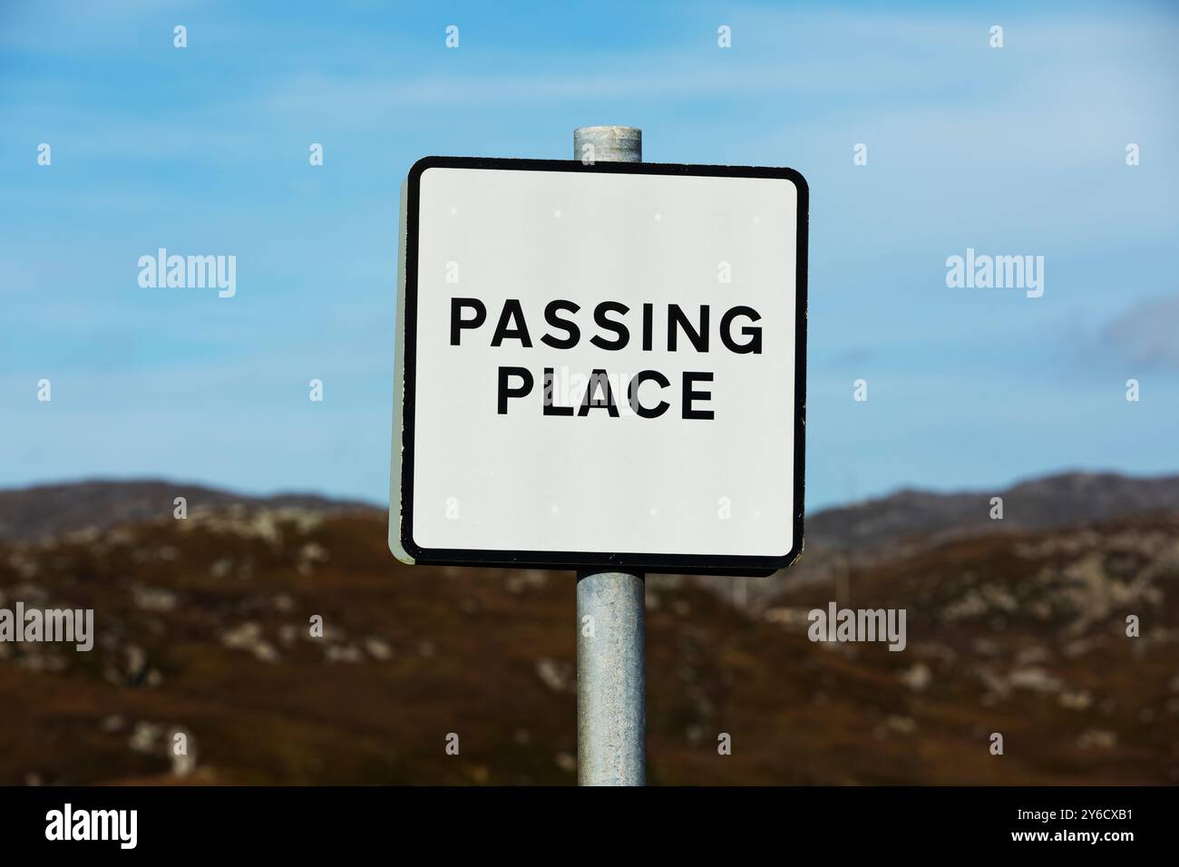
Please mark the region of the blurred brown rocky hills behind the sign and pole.
[[[166, 481], [0, 492], [0, 606], [97, 632], [0, 644], [0, 783], [573, 783], [573, 574], [403, 566], [386, 524]], [[831, 600], [905, 609], [908, 648], [809, 642]], [[647, 617], [652, 783], [1179, 782], [1179, 477], [818, 512], [789, 572], [651, 576]]]

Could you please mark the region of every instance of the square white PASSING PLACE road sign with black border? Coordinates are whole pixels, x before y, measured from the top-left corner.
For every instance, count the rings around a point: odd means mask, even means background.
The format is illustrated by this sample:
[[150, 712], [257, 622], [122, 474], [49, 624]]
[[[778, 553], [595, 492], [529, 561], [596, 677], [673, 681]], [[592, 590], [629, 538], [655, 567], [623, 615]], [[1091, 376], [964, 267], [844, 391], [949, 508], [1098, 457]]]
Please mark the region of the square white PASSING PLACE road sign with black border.
[[400, 559], [759, 574], [797, 557], [802, 176], [430, 157], [403, 205]]

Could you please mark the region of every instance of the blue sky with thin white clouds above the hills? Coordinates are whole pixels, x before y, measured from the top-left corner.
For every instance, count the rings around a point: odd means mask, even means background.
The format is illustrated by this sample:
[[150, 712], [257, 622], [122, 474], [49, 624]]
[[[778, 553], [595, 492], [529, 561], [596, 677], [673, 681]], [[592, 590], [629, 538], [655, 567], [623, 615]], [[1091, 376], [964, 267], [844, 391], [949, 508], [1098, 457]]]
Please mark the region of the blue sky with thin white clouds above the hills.
[[[1029, 6], [5, 2], [0, 485], [384, 500], [406, 171], [610, 123], [806, 176], [808, 508], [1179, 471], [1179, 13]], [[141, 289], [159, 247], [236, 255], [236, 297]], [[1043, 297], [947, 288], [968, 247]]]

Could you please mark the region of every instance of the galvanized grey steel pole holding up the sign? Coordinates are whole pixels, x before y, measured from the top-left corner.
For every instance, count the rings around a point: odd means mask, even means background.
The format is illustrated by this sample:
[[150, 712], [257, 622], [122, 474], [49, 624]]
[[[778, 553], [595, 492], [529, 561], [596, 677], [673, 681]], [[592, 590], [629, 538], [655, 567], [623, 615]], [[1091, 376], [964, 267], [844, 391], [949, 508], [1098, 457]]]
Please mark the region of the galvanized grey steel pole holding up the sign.
[[[582, 126], [573, 158], [641, 163], [643, 131]], [[643, 786], [647, 774], [641, 572], [578, 572], [578, 784]]]

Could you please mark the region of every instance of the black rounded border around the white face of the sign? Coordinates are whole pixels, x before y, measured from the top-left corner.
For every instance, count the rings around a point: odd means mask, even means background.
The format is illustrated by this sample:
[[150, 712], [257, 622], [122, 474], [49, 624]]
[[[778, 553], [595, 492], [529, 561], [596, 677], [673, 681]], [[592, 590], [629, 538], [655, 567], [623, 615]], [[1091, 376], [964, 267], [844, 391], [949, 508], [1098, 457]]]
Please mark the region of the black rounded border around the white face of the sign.
[[[422, 175], [429, 169], [499, 169], [512, 171], [578, 171], [611, 175], [684, 175], [690, 177], [775, 178], [790, 180], [798, 191], [795, 274], [795, 506], [793, 547], [778, 557], [730, 554], [595, 553], [586, 551], [507, 551], [423, 549], [414, 541], [414, 412], [417, 374], [417, 239]], [[488, 566], [499, 569], [613, 569], [672, 574], [768, 576], [789, 566], [803, 551], [803, 494], [806, 434], [806, 241], [810, 190], [793, 169], [742, 165], [683, 165], [676, 163], [584, 164], [572, 159], [502, 159], [493, 157], [423, 157], [409, 170], [404, 236], [404, 309], [401, 335], [401, 546], [415, 565]], [[394, 431], [394, 436], [397, 432]]]

